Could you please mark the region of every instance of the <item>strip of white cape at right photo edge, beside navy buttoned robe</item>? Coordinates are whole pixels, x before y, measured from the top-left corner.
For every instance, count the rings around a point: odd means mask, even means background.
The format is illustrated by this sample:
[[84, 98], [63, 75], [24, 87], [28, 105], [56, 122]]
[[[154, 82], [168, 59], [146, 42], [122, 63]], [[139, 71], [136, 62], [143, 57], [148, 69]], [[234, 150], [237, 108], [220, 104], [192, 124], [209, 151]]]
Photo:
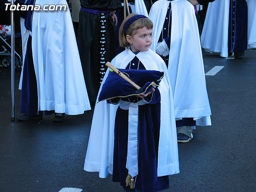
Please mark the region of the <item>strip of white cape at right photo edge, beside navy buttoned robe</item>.
[[256, 0], [246, 0], [248, 7], [248, 45], [256, 48]]

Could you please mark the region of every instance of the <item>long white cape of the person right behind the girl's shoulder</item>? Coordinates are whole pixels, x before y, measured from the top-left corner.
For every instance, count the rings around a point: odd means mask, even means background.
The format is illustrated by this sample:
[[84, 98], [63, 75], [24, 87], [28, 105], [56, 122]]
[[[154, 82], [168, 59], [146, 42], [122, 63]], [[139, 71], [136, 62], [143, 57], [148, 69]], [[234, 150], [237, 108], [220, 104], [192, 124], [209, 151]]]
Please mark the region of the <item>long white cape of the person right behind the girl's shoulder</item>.
[[168, 5], [172, 7], [171, 43], [168, 73], [174, 96], [177, 120], [194, 118], [196, 125], [211, 125], [210, 103], [206, 90], [204, 64], [194, 6], [187, 0], [158, 0], [150, 10], [152, 50], [160, 37]]

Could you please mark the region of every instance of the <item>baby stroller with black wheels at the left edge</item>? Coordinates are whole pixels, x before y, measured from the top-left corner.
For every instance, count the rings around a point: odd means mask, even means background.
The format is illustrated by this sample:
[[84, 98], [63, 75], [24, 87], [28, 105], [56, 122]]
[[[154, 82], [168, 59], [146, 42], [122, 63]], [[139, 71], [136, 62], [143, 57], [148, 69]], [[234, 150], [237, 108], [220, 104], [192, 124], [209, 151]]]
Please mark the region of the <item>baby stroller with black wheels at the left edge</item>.
[[[15, 39], [20, 38], [21, 34], [16, 33]], [[0, 65], [3, 67], [11, 66], [11, 36], [10, 35], [2, 35], [0, 34]], [[22, 68], [22, 58], [20, 55], [15, 51], [15, 70], [17, 70], [20, 66]]]

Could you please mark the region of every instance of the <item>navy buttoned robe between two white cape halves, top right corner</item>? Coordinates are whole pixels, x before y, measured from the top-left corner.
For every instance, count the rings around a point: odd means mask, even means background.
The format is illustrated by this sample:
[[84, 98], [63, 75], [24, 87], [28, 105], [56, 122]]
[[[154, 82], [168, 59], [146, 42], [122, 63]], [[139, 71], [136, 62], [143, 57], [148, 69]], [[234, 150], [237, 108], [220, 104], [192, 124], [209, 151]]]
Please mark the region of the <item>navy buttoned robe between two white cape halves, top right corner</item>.
[[230, 0], [228, 25], [228, 52], [247, 49], [247, 4], [246, 0]]

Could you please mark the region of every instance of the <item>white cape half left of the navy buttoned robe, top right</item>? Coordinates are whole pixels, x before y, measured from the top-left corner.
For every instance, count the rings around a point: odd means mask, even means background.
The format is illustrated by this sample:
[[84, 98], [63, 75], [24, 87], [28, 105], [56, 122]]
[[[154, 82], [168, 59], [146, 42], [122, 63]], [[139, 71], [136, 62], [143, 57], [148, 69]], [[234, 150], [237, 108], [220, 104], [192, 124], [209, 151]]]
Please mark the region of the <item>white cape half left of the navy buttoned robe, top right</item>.
[[202, 48], [228, 57], [228, 21], [230, 0], [209, 3], [201, 35]]

